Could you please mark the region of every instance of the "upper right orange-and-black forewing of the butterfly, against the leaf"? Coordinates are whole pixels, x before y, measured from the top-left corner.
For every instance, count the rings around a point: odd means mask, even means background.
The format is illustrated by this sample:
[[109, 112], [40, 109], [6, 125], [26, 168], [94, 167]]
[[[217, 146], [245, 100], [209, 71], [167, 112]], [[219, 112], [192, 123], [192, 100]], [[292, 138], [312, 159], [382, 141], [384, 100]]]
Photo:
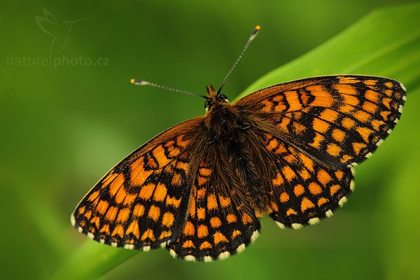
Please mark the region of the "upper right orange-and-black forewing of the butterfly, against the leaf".
[[363, 162], [391, 133], [405, 88], [374, 76], [322, 76], [267, 87], [235, 103], [251, 123], [324, 165]]

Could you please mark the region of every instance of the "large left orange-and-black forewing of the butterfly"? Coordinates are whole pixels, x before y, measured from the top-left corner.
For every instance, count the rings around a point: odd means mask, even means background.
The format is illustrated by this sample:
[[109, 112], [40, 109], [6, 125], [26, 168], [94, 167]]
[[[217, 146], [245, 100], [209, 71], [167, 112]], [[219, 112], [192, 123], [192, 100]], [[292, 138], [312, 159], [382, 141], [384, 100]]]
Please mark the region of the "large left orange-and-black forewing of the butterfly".
[[162, 132], [118, 163], [78, 204], [73, 226], [101, 243], [144, 251], [178, 235], [188, 211], [203, 120]]

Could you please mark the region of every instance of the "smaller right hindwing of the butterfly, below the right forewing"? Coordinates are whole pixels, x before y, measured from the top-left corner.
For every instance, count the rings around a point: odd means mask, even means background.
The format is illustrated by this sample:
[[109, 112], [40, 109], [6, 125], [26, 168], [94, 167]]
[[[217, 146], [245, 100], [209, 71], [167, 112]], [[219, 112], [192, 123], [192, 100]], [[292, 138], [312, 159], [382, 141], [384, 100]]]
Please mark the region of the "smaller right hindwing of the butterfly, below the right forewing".
[[353, 190], [353, 167], [321, 165], [269, 134], [265, 148], [276, 172], [269, 190], [270, 215], [281, 228], [297, 229], [332, 216]]

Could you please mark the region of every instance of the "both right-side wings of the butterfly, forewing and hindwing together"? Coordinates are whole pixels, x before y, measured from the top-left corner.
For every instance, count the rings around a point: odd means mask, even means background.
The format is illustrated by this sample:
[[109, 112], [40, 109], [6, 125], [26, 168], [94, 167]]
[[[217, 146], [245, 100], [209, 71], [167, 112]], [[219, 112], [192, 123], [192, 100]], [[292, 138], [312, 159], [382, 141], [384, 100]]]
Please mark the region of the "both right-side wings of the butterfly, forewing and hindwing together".
[[269, 211], [281, 228], [317, 223], [346, 202], [353, 165], [391, 133], [405, 93], [388, 78], [324, 76], [267, 87], [235, 103], [259, 131], [264, 148], [254, 154], [265, 156]]

